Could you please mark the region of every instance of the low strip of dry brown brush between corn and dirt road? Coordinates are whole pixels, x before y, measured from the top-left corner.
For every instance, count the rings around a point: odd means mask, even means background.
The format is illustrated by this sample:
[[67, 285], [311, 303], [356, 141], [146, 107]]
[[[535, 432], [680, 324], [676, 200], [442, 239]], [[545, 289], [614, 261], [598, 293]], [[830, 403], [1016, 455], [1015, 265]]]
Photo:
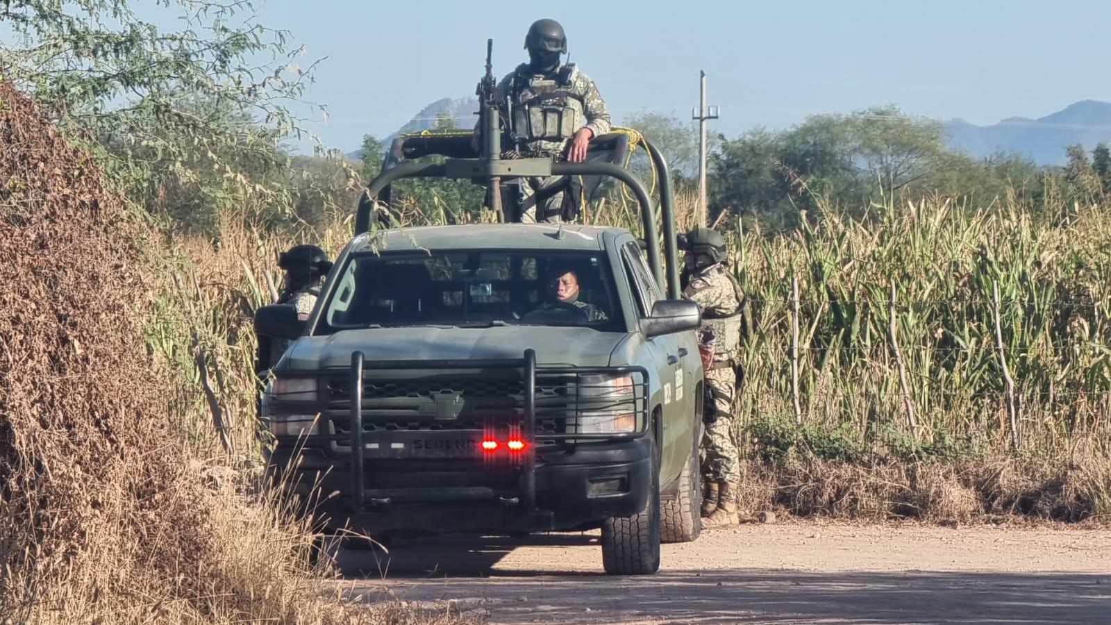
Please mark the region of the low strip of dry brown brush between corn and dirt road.
[[1107, 520], [1111, 464], [997, 458], [743, 462], [741, 507], [859, 520]]

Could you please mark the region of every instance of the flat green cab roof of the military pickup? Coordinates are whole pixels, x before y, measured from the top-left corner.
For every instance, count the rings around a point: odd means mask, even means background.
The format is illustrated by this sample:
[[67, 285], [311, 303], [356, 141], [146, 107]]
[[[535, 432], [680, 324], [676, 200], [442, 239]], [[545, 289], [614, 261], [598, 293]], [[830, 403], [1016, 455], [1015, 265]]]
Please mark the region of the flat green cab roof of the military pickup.
[[407, 251], [413, 249], [548, 249], [602, 250], [605, 240], [625, 234], [624, 228], [577, 224], [468, 224], [422, 226], [364, 232], [356, 237], [352, 252]]

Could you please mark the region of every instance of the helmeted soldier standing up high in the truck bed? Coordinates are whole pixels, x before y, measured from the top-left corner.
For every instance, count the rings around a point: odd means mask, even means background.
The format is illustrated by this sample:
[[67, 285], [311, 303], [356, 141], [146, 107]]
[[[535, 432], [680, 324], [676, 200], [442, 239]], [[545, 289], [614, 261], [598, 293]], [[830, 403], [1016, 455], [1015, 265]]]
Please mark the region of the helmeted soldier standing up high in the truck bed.
[[[533, 22], [524, 49], [529, 62], [502, 78], [493, 92], [500, 125], [511, 140], [503, 156], [582, 162], [590, 140], [610, 131], [598, 87], [575, 63], [561, 62], [568, 48], [558, 21]], [[479, 148], [478, 135], [473, 146]], [[570, 221], [581, 210], [581, 189], [568, 176], [524, 177], [507, 185], [502, 197], [509, 221]]]

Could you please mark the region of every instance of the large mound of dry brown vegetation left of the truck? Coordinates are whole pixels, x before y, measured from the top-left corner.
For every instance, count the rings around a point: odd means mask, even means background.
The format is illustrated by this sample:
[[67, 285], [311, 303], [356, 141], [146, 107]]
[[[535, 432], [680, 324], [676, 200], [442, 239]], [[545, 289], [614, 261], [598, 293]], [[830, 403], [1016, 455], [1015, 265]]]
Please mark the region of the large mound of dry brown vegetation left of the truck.
[[322, 596], [307, 528], [197, 456], [132, 215], [0, 83], [0, 623], [452, 622]]

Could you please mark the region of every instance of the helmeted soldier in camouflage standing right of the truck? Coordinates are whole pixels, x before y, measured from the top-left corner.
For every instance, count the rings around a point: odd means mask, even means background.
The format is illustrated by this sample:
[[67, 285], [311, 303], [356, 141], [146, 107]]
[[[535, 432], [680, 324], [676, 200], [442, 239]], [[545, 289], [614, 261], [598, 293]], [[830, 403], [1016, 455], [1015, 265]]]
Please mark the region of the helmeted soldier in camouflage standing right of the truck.
[[705, 369], [707, 398], [702, 436], [702, 525], [720, 527], [737, 523], [737, 489], [740, 457], [733, 442], [733, 395], [744, 297], [737, 279], [722, 265], [725, 239], [710, 228], [695, 228], [680, 236], [685, 250], [683, 295], [702, 309], [700, 340], [712, 345]]

